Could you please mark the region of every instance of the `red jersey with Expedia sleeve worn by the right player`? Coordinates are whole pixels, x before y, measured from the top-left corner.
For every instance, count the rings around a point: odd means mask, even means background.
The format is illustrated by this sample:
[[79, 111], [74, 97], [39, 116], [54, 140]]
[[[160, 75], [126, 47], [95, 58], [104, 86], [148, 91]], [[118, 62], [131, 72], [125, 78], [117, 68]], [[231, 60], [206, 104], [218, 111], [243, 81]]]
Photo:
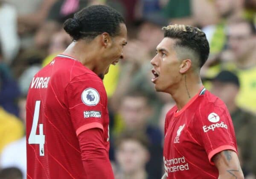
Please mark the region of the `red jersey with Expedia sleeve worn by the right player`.
[[182, 110], [166, 115], [163, 160], [167, 179], [217, 179], [212, 156], [237, 153], [233, 123], [226, 105], [204, 87]]

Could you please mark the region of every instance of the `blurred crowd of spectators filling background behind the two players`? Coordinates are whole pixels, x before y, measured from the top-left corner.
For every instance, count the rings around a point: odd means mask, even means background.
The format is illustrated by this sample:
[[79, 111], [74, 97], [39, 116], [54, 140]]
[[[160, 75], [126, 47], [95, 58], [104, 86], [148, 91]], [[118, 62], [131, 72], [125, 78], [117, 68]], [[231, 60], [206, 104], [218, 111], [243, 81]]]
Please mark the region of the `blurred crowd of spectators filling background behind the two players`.
[[255, 0], [0, 0], [0, 179], [26, 178], [26, 94], [33, 76], [71, 42], [62, 29], [79, 9], [106, 4], [128, 29], [124, 59], [104, 78], [110, 159], [116, 179], [160, 179], [165, 115], [175, 102], [155, 92], [150, 60], [168, 24], [207, 35], [207, 90], [227, 105], [246, 179], [256, 178]]

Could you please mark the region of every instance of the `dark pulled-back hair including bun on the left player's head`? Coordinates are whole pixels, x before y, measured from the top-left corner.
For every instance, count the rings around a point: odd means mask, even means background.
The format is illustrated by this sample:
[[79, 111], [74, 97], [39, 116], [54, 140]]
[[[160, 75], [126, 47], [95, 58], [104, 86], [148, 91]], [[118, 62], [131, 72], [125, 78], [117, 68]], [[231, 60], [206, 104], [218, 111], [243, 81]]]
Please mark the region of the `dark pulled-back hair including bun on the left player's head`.
[[107, 32], [111, 37], [119, 35], [120, 23], [125, 20], [115, 9], [103, 6], [89, 6], [77, 12], [64, 22], [64, 30], [77, 41], [81, 38], [94, 39]]

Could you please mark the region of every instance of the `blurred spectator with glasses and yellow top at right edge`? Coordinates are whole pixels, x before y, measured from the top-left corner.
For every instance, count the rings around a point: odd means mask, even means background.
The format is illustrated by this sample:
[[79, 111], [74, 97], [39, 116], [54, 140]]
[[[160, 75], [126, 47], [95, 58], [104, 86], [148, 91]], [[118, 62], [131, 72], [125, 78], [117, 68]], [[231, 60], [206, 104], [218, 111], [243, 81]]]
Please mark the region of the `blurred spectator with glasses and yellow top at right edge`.
[[226, 69], [237, 72], [240, 81], [236, 104], [239, 107], [256, 111], [256, 29], [253, 23], [241, 20], [230, 23], [227, 29], [229, 37], [227, 52], [221, 55], [221, 61], [229, 61]]

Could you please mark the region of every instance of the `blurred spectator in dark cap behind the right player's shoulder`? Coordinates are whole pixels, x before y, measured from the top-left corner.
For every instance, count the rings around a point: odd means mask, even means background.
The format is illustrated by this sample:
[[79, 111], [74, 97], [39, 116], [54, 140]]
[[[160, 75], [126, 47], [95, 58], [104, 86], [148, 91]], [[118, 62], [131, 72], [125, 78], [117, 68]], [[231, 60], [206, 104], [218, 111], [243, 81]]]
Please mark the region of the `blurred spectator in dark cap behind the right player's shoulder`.
[[236, 105], [239, 87], [239, 79], [232, 72], [221, 71], [213, 78], [212, 93], [224, 101], [230, 112], [240, 149], [240, 161], [246, 177], [250, 172], [256, 175], [256, 116]]

